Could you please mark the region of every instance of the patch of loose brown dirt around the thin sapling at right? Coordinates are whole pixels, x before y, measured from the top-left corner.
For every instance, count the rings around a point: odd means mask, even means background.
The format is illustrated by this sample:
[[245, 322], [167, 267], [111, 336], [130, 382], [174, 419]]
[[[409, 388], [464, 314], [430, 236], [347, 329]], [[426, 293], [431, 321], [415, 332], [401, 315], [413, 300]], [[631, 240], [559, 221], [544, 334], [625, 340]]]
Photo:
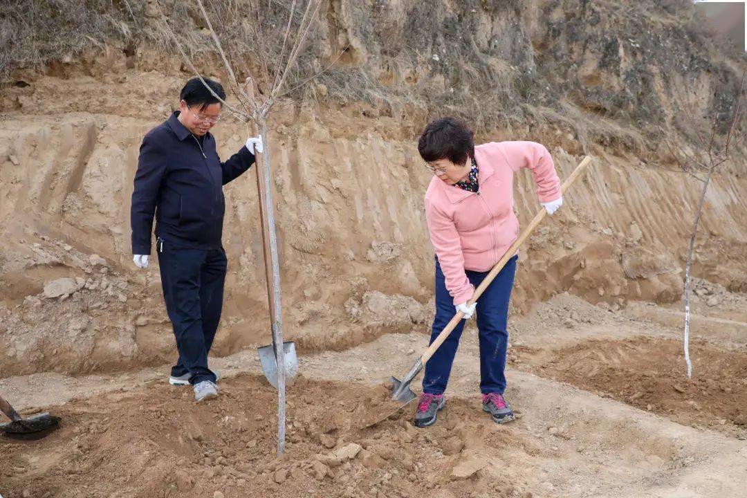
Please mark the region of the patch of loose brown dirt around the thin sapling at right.
[[678, 340], [589, 340], [554, 351], [534, 370], [678, 423], [747, 435], [747, 352], [697, 342], [690, 356], [688, 380]]

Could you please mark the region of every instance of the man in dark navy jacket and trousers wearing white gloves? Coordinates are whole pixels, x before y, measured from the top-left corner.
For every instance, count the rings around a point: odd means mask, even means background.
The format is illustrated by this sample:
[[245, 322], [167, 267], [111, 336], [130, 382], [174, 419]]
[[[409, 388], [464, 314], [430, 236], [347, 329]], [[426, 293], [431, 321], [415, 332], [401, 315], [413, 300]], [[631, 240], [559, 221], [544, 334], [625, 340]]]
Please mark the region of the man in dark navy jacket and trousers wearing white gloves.
[[[203, 79], [226, 99], [217, 81]], [[133, 260], [145, 268], [155, 214], [161, 286], [179, 350], [169, 382], [193, 385], [198, 402], [217, 396], [208, 352], [220, 322], [226, 279], [223, 185], [249, 169], [255, 150], [262, 152], [261, 137], [250, 137], [228, 161], [220, 161], [209, 130], [220, 120], [221, 108], [199, 78], [187, 81], [179, 111], [143, 138], [130, 215]]]

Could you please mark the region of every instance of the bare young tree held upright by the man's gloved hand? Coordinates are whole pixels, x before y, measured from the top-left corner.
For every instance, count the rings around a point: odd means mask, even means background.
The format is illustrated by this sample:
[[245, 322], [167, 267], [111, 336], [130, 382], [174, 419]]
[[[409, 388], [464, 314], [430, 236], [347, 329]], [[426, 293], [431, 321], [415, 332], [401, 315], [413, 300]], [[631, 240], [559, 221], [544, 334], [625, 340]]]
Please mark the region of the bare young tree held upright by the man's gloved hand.
[[[307, 57], [303, 68], [300, 68], [302, 56], [309, 55], [307, 49], [310, 35], [317, 26], [317, 14], [321, 3], [320, 0], [293, 0], [288, 6], [273, 1], [264, 4], [258, 0], [213, 1], [209, 4], [211, 12], [208, 13], [202, 0], [196, 0], [199, 7], [197, 24], [202, 23], [202, 28], [207, 29], [214, 46], [213, 55], [219, 58], [227, 76], [229, 90], [238, 101], [238, 105], [229, 105], [225, 99], [220, 99], [220, 102], [226, 111], [244, 122], [249, 136], [254, 135], [249, 132], [249, 122], [252, 122], [261, 143], [265, 143], [269, 137], [267, 116], [276, 105], [279, 105], [281, 99], [295, 96], [297, 90], [303, 89], [306, 84], [333, 66], [347, 50], [347, 47], [343, 49], [335, 60], [316, 74], [313, 69], [317, 69], [318, 62], [314, 57]], [[187, 55], [187, 50], [192, 47], [185, 41], [185, 37], [180, 38], [176, 32], [177, 24], [173, 19], [176, 11], [168, 11], [161, 2], [159, 7], [164, 28], [170, 34], [185, 63], [200, 81], [208, 86], [196, 69], [193, 57]], [[182, 19], [194, 18], [193, 13], [188, 14], [182, 15]], [[188, 40], [188, 37], [186, 38]], [[241, 72], [235, 70], [239, 63]], [[270, 322], [278, 374], [278, 454], [282, 454], [285, 448], [285, 373], [288, 365], [282, 340], [280, 273], [271, 193], [271, 167], [270, 147], [264, 147], [261, 156], [258, 155], [257, 187], [260, 197]]]

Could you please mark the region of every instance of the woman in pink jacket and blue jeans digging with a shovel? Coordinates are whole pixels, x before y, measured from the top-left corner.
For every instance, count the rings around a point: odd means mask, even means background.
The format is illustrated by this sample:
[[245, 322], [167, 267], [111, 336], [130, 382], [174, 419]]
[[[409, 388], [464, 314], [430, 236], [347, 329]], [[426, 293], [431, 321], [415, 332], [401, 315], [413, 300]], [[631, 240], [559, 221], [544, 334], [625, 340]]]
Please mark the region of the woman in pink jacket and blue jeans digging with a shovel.
[[[469, 306], [475, 287], [516, 240], [518, 220], [513, 212], [513, 176], [529, 168], [537, 184], [539, 202], [553, 214], [562, 205], [560, 181], [548, 149], [534, 142], [474, 145], [474, 134], [453, 118], [431, 122], [418, 141], [418, 151], [433, 171], [425, 195], [430, 240], [436, 249], [436, 318], [431, 341], [456, 311], [465, 320], [477, 314], [480, 331], [480, 391], [483, 411], [496, 423], [514, 420], [503, 399], [506, 389], [506, 322], [516, 271], [516, 259]], [[444, 390], [465, 320], [451, 332], [426, 364], [423, 395], [415, 412], [415, 426], [436, 422], [444, 407]]]

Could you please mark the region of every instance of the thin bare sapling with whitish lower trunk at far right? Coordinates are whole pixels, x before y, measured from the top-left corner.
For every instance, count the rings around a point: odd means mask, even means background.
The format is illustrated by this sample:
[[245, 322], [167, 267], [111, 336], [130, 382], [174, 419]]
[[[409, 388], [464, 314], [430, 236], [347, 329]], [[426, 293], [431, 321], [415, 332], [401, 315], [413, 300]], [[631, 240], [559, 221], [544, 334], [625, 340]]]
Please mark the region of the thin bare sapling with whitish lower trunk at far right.
[[[692, 233], [690, 234], [689, 246], [687, 248], [687, 262], [685, 265], [684, 300], [685, 300], [685, 323], [684, 323], [684, 353], [687, 365], [687, 377], [692, 378], [692, 361], [689, 353], [690, 333], [690, 274], [692, 272], [692, 255], [695, 250], [695, 237], [698, 234], [698, 225], [703, 214], [705, 196], [711, 178], [720, 166], [731, 159], [731, 154], [738, 140], [741, 139], [742, 127], [742, 105], [745, 93], [747, 72], [744, 72], [739, 87], [734, 93], [715, 93], [713, 105], [725, 108], [723, 111], [712, 111], [710, 116], [698, 119], [696, 110], [697, 93], [686, 88], [682, 93], [680, 105], [682, 108], [682, 124], [684, 131], [689, 135], [691, 144], [687, 145], [680, 140], [672, 140], [665, 133], [664, 142], [669, 148], [672, 157], [677, 161], [682, 171], [701, 183], [701, 193], [698, 205], [695, 208], [695, 220], [692, 222]], [[710, 117], [710, 119], [709, 119]], [[704, 119], [709, 119], [704, 123]]]

